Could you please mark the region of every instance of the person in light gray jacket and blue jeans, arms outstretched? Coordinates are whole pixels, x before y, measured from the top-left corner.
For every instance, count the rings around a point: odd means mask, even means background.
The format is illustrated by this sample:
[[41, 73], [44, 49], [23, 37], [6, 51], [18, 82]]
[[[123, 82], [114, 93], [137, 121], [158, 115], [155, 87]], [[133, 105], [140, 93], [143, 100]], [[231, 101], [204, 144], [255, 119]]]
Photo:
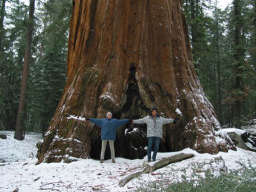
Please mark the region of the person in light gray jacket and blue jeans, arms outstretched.
[[156, 154], [159, 147], [159, 141], [163, 138], [163, 124], [176, 124], [179, 118], [163, 118], [157, 114], [157, 108], [151, 110], [150, 115], [132, 120], [134, 124], [147, 124], [147, 138], [148, 138], [148, 162], [151, 161], [151, 151], [154, 144], [153, 161], [156, 161]]

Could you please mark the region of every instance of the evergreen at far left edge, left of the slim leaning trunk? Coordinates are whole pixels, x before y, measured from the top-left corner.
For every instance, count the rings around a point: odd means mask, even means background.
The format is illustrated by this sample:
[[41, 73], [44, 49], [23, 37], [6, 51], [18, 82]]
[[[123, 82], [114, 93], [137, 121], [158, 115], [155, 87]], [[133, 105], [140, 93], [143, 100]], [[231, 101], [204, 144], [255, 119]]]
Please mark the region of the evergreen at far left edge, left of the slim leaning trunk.
[[28, 9], [19, 1], [8, 1], [4, 11], [4, 33], [0, 51], [0, 129], [15, 129], [19, 103], [22, 61]]

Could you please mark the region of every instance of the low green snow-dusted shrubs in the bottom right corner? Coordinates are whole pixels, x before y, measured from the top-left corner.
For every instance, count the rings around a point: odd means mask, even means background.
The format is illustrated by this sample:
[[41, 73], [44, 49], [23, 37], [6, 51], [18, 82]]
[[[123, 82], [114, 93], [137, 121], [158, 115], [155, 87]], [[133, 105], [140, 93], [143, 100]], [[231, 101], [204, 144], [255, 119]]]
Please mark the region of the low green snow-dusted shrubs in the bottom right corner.
[[194, 173], [188, 178], [185, 175], [181, 182], [150, 182], [146, 186], [136, 189], [136, 192], [157, 192], [157, 191], [188, 191], [188, 192], [210, 192], [210, 191], [255, 191], [256, 190], [256, 170], [255, 168], [242, 168], [230, 173], [221, 173], [215, 177], [211, 172], [205, 172], [205, 176], [198, 176]]

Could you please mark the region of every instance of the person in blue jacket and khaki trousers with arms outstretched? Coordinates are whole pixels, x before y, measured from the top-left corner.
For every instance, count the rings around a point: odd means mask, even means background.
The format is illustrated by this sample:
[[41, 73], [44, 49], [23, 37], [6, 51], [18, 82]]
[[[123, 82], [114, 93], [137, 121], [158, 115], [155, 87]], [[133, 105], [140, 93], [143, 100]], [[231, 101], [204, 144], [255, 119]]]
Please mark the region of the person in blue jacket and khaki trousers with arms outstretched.
[[90, 120], [95, 125], [98, 125], [101, 128], [101, 154], [100, 154], [100, 163], [103, 163], [105, 150], [107, 143], [109, 142], [111, 159], [113, 163], [115, 161], [115, 148], [114, 141], [116, 140], [116, 130], [118, 127], [125, 125], [129, 122], [129, 119], [118, 120], [112, 118], [112, 113], [108, 112], [106, 115], [107, 118], [86, 118]]

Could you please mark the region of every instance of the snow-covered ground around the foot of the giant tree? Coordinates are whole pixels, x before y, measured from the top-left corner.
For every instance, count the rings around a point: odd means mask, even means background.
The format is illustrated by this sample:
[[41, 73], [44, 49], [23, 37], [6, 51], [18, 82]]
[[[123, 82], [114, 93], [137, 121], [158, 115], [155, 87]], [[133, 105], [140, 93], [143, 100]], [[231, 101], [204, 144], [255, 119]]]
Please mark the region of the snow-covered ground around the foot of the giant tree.
[[[144, 174], [132, 179], [124, 187], [118, 182], [127, 175], [141, 170], [144, 159], [129, 160], [117, 157], [116, 163], [110, 160], [100, 164], [93, 159], [81, 159], [80, 161], [66, 163], [36, 163], [36, 142], [41, 138], [39, 134], [26, 134], [23, 141], [13, 139], [14, 132], [0, 131], [7, 134], [7, 140], [0, 139], [0, 192], [13, 191], [134, 191], [141, 184], [164, 180], [173, 182], [182, 179], [182, 175], [189, 177], [196, 171], [204, 175], [206, 170], [218, 175], [223, 168], [237, 170], [241, 164], [256, 166], [256, 153], [237, 148], [237, 151], [229, 150], [216, 155], [198, 154], [194, 150], [186, 148], [180, 152], [158, 153], [157, 159], [173, 156], [175, 154], [193, 153], [195, 157], [156, 170], [156, 174]], [[1, 162], [1, 161], [0, 161]], [[152, 163], [153, 164], [153, 163]]]

